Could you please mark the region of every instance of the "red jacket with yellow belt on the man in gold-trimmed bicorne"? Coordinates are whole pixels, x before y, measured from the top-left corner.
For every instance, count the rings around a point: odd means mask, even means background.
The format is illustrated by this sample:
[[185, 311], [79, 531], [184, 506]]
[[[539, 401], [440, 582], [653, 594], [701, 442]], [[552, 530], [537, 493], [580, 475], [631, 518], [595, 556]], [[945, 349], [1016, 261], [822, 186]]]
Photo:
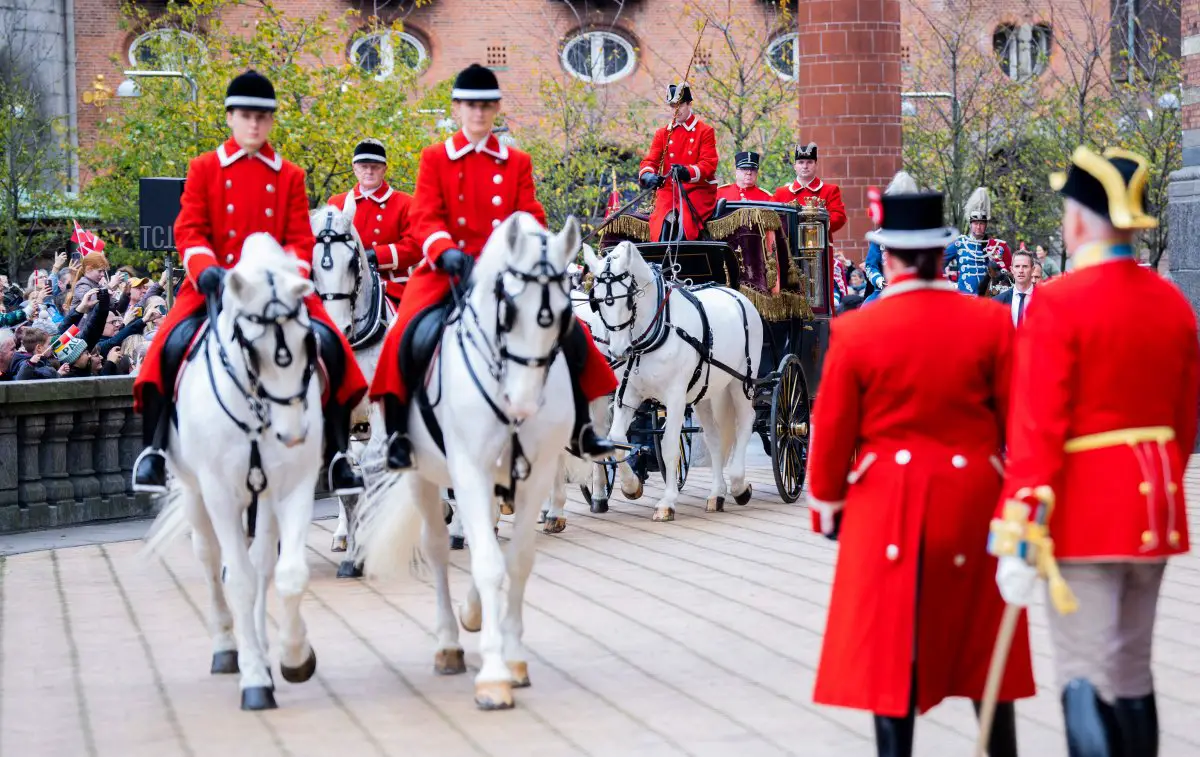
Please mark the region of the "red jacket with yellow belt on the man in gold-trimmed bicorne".
[[1054, 488], [1061, 560], [1180, 554], [1200, 392], [1195, 316], [1132, 258], [1087, 257], [1038, 288], [1018, 331], [1004, 492]]

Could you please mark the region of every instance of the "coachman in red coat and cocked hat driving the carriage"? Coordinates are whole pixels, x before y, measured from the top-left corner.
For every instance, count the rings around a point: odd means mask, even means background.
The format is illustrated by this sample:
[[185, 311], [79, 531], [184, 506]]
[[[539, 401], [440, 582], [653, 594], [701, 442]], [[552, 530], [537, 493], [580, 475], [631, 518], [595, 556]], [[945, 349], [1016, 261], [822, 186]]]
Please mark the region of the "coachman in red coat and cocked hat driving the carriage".
[[[716, 205], [716, 132], [691, 112], [686, 82], [667, 88], [671, 124], [654, 132], [637, 179], [658, 187], [650, 214], [650, 240], [700, 239]], [[683, 223], [680, 236], [680, 220]]]

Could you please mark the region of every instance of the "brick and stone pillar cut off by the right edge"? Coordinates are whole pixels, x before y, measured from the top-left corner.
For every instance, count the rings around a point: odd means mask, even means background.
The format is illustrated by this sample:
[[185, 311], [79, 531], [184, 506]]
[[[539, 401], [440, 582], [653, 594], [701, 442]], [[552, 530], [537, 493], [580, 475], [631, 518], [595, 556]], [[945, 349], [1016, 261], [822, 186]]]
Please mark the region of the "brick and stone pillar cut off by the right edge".
[[1200, 313], [1200, 0], [1180, 5], [1183, 54], [1183, 168], [1168, 190], [1171, 278]]

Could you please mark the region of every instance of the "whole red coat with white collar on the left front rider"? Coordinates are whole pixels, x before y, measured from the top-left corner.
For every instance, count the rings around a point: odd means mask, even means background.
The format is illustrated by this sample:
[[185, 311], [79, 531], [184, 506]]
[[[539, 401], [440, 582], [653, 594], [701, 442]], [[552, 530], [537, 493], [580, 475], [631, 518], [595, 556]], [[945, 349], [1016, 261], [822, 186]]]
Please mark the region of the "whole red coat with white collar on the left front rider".
[[[308, 196], [305, 192], [304, 169], [284, 161], [269, 144], [248, 155], [229, 139], [212, 152], [193, 160], [187, 168], [187, 181], [175, 218], [175, 247], [184, 256], [187, 278], [175, 295], [175, 305], [167, 313], [158, 332], [150, 342], [145, 362], [133, 385], [134, 401], [140, 409], [140, 389], [151, 384], [160, 392], [162, 386], [162, 346], [167, 335], [181, 320], [204, 308], [204, 296], [196, 290], [196, 280], [204, 269], [220, 265], [230, 269], [241, 258], [246, 238], [265, 232], [275, 238], [296, 259], [300, 274], [312, 274], [312, 248], [316, 244], [308, 221]], [[320, 296], [305, 298], [312, 318], [329, 325], [341, 335], [325, 312]], [[346, 376], [336, 390], [342, 404], [355, 404], [366, 392], [366, 379], [354, 360], [354, 353], [343, 336]], [[174, 391], [174, 387], [169, 387]]]

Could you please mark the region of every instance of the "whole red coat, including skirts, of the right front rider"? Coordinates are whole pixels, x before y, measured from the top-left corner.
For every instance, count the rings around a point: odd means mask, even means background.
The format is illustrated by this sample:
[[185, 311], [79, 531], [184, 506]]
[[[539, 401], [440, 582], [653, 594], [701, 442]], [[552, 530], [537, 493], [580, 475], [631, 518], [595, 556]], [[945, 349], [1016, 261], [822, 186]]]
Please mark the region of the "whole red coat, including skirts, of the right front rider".
[[[538, 202], [533, 163], [527, 152], [500, 144], [494, 134], [476, 146], [461, 131], [445, 143], [421, 151], [409, 217], [424, 259], [418, 263], [404, 288], [396, 320], [384, 340], [371, 380], [372, 399], [385, 395], [402, 401], [408, 397], [400, 374], [400, 343], [404, 329], [414, 316], [450, 294], [450, 277], [437, 270], [433, 263], [451, 247], [478, 258], [492, 229], [518, 211], [528, 212], [538, 223], [546, 224], [546, 211]], [[616, 374], [594, 343], [588, 353], [582, 384], [589, 399], [602, 397], [617, 387]]]

